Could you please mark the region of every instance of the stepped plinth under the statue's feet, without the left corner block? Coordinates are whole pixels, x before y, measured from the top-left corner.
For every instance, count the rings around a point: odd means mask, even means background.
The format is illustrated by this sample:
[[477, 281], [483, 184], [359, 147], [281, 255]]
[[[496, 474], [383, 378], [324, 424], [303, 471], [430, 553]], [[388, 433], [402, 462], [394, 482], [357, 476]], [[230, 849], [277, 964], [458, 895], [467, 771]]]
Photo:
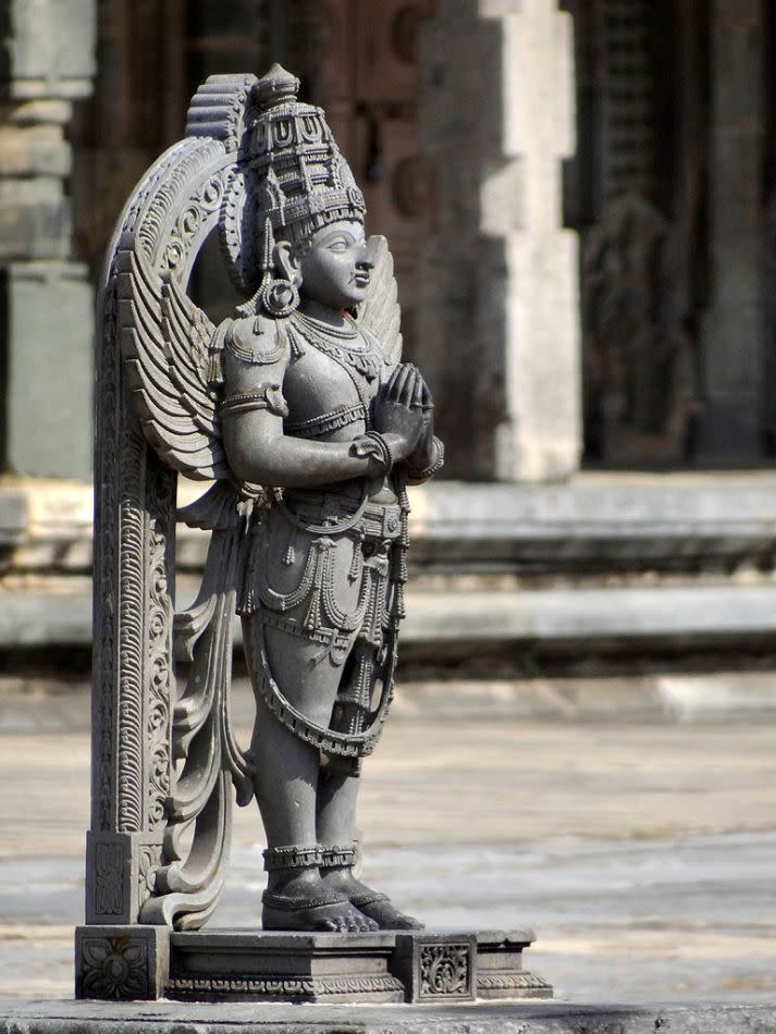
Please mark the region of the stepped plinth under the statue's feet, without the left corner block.
[[239, 1001], [430, 1001], [550, 998], [522, 968], [531, 931], [263, 933], [170, 936], [167, 997]]

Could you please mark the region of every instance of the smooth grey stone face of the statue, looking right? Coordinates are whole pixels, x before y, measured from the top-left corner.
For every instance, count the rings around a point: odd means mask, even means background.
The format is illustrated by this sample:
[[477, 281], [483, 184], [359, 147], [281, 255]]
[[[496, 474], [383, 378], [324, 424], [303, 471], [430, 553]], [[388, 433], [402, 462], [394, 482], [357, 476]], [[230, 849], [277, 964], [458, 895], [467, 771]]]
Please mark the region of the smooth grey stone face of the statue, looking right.
[[372, 266], [364, 225], [343, 219], [316, 231], [299, 257], [300, 293], [332, 309], [364, 301]]

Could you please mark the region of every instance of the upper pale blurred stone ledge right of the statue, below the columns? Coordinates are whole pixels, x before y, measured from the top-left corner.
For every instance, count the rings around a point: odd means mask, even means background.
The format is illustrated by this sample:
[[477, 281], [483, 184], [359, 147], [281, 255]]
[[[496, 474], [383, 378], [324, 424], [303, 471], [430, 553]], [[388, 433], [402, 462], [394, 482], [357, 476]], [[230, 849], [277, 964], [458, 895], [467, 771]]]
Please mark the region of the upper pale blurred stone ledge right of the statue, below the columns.
[[[412, 500], [412, 558], [458, 573], [666, 569], [767, 563], [776, 479], [584, 473], [563, 485], [436, 482]], [[444, 559], [446, 557], [446, 559]]]

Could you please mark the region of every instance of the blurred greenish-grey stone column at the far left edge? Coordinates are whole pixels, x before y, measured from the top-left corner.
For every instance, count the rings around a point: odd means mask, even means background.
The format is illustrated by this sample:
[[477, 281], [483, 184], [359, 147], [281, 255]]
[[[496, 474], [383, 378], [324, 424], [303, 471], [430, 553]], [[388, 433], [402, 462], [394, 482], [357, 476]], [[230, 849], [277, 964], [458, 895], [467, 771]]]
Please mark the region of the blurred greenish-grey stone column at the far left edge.
[[93, 298], [74, 262], [66, 127], [91, 91], [95, 0], [9, 0], [0, 69], [2, 466], [88, 478]]

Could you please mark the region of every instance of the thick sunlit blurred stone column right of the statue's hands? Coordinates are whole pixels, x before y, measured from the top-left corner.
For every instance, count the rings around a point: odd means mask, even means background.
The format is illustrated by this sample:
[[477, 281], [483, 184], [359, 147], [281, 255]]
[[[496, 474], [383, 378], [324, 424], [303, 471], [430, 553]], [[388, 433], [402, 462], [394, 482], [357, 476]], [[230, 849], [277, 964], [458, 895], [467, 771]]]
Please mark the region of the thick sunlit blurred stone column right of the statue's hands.
[[554, 0], [440, 0], [420, 50], [420, 138], [436, 222], [418, 354], [447, 472], [545, 481], [581, 452], [571, 21]]

